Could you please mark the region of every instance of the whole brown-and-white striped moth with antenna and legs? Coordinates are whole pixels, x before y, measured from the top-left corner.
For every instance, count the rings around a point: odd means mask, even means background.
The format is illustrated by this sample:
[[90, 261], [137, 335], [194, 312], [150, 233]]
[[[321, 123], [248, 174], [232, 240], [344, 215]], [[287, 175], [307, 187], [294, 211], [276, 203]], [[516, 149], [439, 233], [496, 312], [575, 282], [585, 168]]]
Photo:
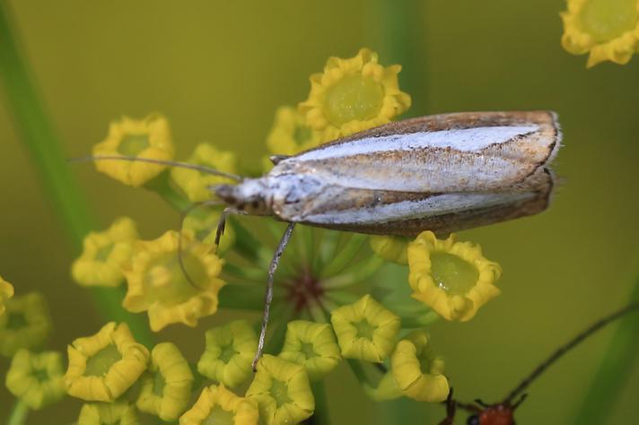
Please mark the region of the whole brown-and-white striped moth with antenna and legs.
[[[229, 214], [288, 222], [271, 261], [262, 330], [267, 330], [273, 278], [295, 224], [373, 235], [439, 235], [542, 212], [554, 186], [549, 165], [561, 132], [550, 111], [467, 112], [392, 122], [293, 156], [274, 156], [261, 178], [171, 161], [237, 183], [211, 186]], [[219, 201], [214, 201], [219, 202]], [[254, 363], [255, 364], [255, 363]]]

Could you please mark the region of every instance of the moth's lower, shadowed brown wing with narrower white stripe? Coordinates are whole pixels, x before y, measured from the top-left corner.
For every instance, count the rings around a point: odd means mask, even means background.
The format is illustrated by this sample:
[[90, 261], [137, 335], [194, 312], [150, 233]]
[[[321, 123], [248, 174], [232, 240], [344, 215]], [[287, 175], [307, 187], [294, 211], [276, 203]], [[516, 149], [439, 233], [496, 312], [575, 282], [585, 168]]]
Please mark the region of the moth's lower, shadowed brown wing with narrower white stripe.
[[554, 178], [547, 169], [506, 191], [418, 194], [328, 186], [303, 204], [276, 212], [333, 230], [414, 237], [424, 230], [438, 235], [525, 217], [547, 208]]

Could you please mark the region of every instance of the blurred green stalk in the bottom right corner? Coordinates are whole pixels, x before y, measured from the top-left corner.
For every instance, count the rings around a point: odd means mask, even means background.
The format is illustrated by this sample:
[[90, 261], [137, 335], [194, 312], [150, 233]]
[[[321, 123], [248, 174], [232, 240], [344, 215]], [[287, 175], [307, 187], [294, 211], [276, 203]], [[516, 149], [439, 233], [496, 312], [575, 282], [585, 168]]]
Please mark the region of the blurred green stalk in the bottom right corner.
[[[630, 294], [629, 303], [639, 302], [639, 278]], [[620, 319], [600, 368], [575, 418], [575, 424], [607, 423], [630, 377], [630, 371], [639, 353], [639, 313], [634, 312]]]

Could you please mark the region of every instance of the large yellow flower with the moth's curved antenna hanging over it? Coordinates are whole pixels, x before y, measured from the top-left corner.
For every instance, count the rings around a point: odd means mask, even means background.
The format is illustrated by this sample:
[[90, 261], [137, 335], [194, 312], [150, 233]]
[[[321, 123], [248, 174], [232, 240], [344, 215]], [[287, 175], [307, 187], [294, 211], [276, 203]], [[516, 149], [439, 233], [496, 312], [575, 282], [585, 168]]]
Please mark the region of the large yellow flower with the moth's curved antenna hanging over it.
[[193, 283], [179, 267], [179, 233], [173, 230], [138, 241], [124, 270], [128, 290], [122, 305], [134, 313], [146, 311], [155, 332], [171, 323], [195, 326], [199, 317], [217, 311], [223, 261], [213, 254], [214, 246], [194, 240], [189, 232], [182, 235], [182, 261]]

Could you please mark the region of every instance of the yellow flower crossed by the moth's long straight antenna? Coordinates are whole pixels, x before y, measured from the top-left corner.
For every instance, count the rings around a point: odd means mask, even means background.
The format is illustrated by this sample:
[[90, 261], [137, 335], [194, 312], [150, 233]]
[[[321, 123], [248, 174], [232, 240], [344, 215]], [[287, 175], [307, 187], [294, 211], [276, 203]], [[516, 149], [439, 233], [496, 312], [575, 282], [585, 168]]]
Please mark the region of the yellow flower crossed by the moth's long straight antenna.
[[[169, 122], [159, 114], [143, 119], [112, 121], [107, 138], [93, 146], [95, 156], [128, 156], [171, 160], [173, 142]], [[142, 186], [166, 169], [164, 165], [127, 160], [96, 160], [95, 168], [128, 186]]]

